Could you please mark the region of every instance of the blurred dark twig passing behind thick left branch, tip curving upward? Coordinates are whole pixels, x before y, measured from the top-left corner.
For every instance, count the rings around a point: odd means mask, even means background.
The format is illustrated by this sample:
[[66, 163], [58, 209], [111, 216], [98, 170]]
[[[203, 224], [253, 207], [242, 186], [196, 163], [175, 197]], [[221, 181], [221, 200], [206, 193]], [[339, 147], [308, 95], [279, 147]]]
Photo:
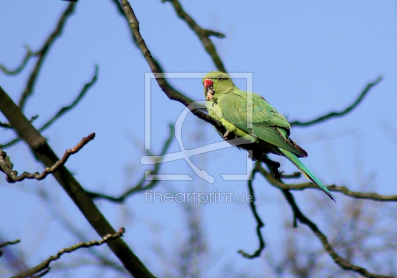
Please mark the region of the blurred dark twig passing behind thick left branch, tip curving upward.
[[[79, 92], [79, 94], [77, 95], [77, 97], [72, 101], [72, 103], [70, 103], [69, 105], [66, 105], [64, 107], [62, 107], [53, 117], [51, 117], [50, 120], [48, 120], [43, 126], [41, 126], [41, 128], [39, 128], [40, 132], [45, 131], [46, 129], [48, 129], [52, 124], [54, 124], [59, 118], [61, 118], [63, 115], [65, 115], [67, 112], [69, 112], [71, 109], [73, 109], [85, 96], [85, 94], [88, 92], [88, 90], [94, 86], [94, 84], [96, 83], [98, 79], [98, 66], [95, 65], [95, 72], [94, 75], [92, 76], [91, 80], [87, 83], [84, 84], [83, 88], [81, 89], [81, 91]], [[33, 122], [33, 118], [31, 120], [31, 123]], [[9, 124], [7, 124], [9, 125]], [[3, 145], [0, 145], [1, 148], [7, 148], [10, 147], [16, 143], [18, 143], [19, 141], [21, 141], [22, 139], [17, 137], [15, 139], [12, 139], [6, 143], [4, 143]]]

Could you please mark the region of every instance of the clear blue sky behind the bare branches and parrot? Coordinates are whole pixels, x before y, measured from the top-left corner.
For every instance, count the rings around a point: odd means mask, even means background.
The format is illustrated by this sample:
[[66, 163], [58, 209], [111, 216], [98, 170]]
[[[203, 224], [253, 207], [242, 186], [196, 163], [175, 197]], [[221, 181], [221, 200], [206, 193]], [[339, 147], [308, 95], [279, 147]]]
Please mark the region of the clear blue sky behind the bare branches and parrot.
[[[176, 16], [170, 3], [132, 0], [131, 4], [140, 22], [141, 34], [164, 70], [215, 70], [199, 39]], [[253, 72], [254, 91], [288, 120], [309, 120], [343, 109], [368, 82], [383, 75], [384, 80], [353, 113], [311, 128], [294, 128], [291, 137], [307, 150], [309, 157], [304, 159], [305, 164], [324, 183], [346, 185], [352, 190], [367, 185], [369, 191], [396, 194], [396, 183], [391, 179], [397, 157], [396, 1], [184, 0], [182, 4], [200, 26], [226, 34], [225, 39], [213, 39], [226, 69]], [[66, 5], [58, 0], [1, 1], [0, 63], [15, 68], [25, 53], [23, 45], [37, 50], [52, 32]], [[62, 37], [45, 61], [25, 114], [27, 117], [39, 114], [35, 125], [40, 126], [74, 99], [82, 85], [90, 80], [94, 65], [99, 66], [98, 82], [81, 103], [45, 131], [44, 136], [57, 154], [62, 155], [82, 137], [95, 132], [95, 140], [72, 156], [66, 166], [87, 190], [118, 195], [137, 181], [144, 170], [150, 169], [139, 163], [144, 142], [144, 73], [149, 67], [132, 44], [128, 26], [110, 0], [78, 1]], [[15, 101], [33, 66], [31, 61], [16, 77], [0, 73], [1, 87]], [[200, 79], [173, 79], [172, 84], [195, 100], [203, 99]], [[151, 143], [152, 151], [158, 153], [168, 135], [168, 123], [175, 123], [184, 107], [168, 100], [155, 83], [152, 87]], [[4, 121], [2, 116], [0, 121]], [[0, 143], [13, 137], [12, 132], [0, 129]], [[201, 142], [197, 141], [198, 137], [202, 137]], [[185, 122], [183, 138], [186, 148], [220, 140], [212, 127], [193, 116]], [[174, 141], [171, 151], [178, 150]], [[23, 143], [6, 151], [19, 173], [43, 169]], [[186, 173], [195, 181], [168, 181], [154, 190], [190, 192], [194, 188], [224, 192], [232, 189], [236, 194], [247, 192], [245, 182], [226, 182], [219, 175], [243, 173], [245, 158], [245, 152], [236, 148], [193, 158], [200, 168], [215, 177], [214, 184], [200, 180], [185, 161], [169, 162], [163, 165], [161, 173]], [[295, 171], [287, 161], [277, 159], [283, 170]], [[48, 209], [53, 205], [76, 224], [87, 240], [98, 238], [52, 177], [11, 185], [6, 184], [5, 177], [0, 180], [1, 239], [20, 238], [22, 242], [12, 250], [17, 255], [18, 250], [23, 251], [30, 267], [79, 241], [53, 220], [54, 210]], [[259, 213], [266, 225], [263, 233], [269, 249], [264, 252], [271, 254], [271, 248], [277, 248], [283, 241], [280, 235], [284, 220], [291, 217], [290, 210], [281, 194], [263, 179], [259, 178], [254, 186]], [[53, 205], [37, 197], [39, 190], [50, 194]], [[294, 195], [303, 208], [309, 208], [315, 199], [324, 199], [329, 213], [343, 212], [344, 197], [340, 194], [335, 194], [338, 206], [319, 191]], [[115, 229], [126, 227], [126, 242], [152, 273], [161, 276], [167, 264], [155, 255], [155, 247], [160, 245], [165, 257], [174, 256], [176, 247], [186, 236], [182, 206], [145, 204], [141, 194], [134, 195], [123, 206], [106, 201], [96, 203]], [[128, 221], [127, 209], [131, 213]], [[253, 252], [258, 245], [256, 223], [248, 204], [207, 204], [198, 211], [208, 245], [205, 277], [217, 277], [227, 266], [232, 266], [235, 273], [264, 273], [262, 259], [249, 261], [237, 254], [239, 249]], [[324, 222], [321, 216], [313, 219]], [[326, 227], [326, 224], [320, 225], [329, 235], [335, 232]], [[318, 244], [317, 238], [312, 240]], [[83, 252], [65, 255], [61, 261], [72, 261]], [[0, 260], [0, 266], [7, 266], [5, 260]], [[92, 270], [80, 268], [69, 274], [87, 277]], [[115, 273], [104, 277], [113, 275]], [[48, 277], [58, 276], [54, 272]]]

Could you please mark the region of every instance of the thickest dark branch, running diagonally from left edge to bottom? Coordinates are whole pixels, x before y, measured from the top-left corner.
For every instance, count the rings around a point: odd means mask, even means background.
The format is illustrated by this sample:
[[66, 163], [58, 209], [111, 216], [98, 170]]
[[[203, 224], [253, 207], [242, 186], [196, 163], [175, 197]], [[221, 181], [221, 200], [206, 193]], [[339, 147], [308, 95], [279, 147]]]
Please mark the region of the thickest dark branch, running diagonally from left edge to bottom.
[[[14, 127], [14, 131], [30, 147], [35, 157], [40, 160], [46, 167], [53, 166], [59, 158], [51, 149], [46, 139], [36, 130], [33, 125], [26, 119], [25, 115], [16, 106], [12, 99], [0, 87], [0, 111]], [[108, 234], [114, 234], [116, 231], [109, 224], [107, 219], [102, 215], [100, 210], [95, 206], [91, 198], [88, 197], [83, 187], [73, 177], [73, 175], [61, 165], [54, 174], [55, 179], [66, 191], [78, 209], [83, 213], [85, 218], [96, 230], [104, 237]], [[140, 262], [139, 258], [131, 251], [128, 245], [121, 239], [107, 242], [112, 252], [119, 258], [125, 268], [134, 276], [142, 278], [152, 278], [153, 275]]]

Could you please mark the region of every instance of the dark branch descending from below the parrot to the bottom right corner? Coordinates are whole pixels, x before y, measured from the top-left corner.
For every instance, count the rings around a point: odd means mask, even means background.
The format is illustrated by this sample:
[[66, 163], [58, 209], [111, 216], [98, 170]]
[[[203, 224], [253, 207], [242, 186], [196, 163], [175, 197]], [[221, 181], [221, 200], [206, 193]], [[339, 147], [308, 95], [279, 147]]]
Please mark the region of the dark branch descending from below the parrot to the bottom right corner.
[[[263, 174], [265, 179], [267, 179], [267, 175], [265, 175], [265, 172], [266, 173], [268, 173], [268, 172], [261, 170], [261, 168], [263, 169], [263, 167], [260, 166], [260, 163], [261, 162], [256, 163], [256, 168]], [[269, 169], [272, 169], [272, 165], [267, 165], [267, 166]], [[278, 182], [282, 183], [281, 180], [278, 180]], [[331, 244], [328, 242], [327, 237], [320, 231], [320, 229], [317, 227], [317, 225], [314, 222], [312, 222], [309, 218], [307, 218], [306, 215], [304, 215], [302, 213], [302, 211], [299, 209], [298, 205], [296, 204], [292, 193], [289, 192], [288, 189], [283, 189], [283, 188], [279, 188], [279, 189], [281, 190], [282, 194], [284, 195], [285, 199], [287, 200], [288, 204], [290, 205], [290, 207], [292, 209], [293, 216], [294, 216], [294, 221], [293, 221], [294, 227], [297, 227], [297, 221], [308, 226], [312, 230], [312, 232], [317, 236], [317, 238], [320, 239], [324, 250], [331, 256], [331, 258], [335, 262], [335, 264], [338, 265], [341, 269], [359, 273], [362, 276], [367, 277], [367, 278], [391, 278], [388, 276], [370, 273], [365, 268], [353, 265], [349, 261], [340, 257], [335, 252], [335, 250], [333, 250]]]

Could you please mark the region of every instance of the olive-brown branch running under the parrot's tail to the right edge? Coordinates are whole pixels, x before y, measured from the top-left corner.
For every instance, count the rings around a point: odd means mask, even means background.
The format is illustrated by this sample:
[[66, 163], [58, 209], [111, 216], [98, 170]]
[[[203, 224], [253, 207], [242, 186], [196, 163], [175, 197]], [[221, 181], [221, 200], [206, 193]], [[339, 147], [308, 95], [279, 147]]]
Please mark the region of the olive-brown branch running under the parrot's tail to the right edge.
[[[258, 166], [258, 170], [262, 173], [262, 175], [266, 178], [266, 180], [274, 187], [285, 190], [305, 190], [305, 189], [316, 189], [320, 190], [320, 188], [312, 182], [305, 182], [301, 184], [284, 184], [280, 180], [277, 180], [273, 177], [273, 175], [267, 172], [263, 167]], [[397, 202], [397, 195], [379, 195], [377, 193], [363, 193], [357, 191], [350, 191], [345, 186], [336, 186], [336, 185], [328, 185], [326, 186], [328, 190], [333, 192], [340, 192], [345, 196], [355, 198], [355, 199], [366, 199], [378, 202]]]

